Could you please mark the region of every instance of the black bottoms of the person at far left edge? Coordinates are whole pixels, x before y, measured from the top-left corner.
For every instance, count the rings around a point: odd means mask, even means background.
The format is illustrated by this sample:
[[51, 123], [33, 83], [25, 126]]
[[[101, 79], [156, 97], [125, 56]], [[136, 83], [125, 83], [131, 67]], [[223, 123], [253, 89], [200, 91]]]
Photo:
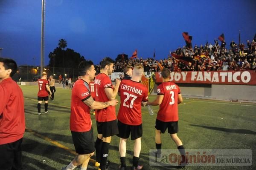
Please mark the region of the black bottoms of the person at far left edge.
[[22, 139], [9, 144], [0, 144], [0, 170], [21, 170]]

